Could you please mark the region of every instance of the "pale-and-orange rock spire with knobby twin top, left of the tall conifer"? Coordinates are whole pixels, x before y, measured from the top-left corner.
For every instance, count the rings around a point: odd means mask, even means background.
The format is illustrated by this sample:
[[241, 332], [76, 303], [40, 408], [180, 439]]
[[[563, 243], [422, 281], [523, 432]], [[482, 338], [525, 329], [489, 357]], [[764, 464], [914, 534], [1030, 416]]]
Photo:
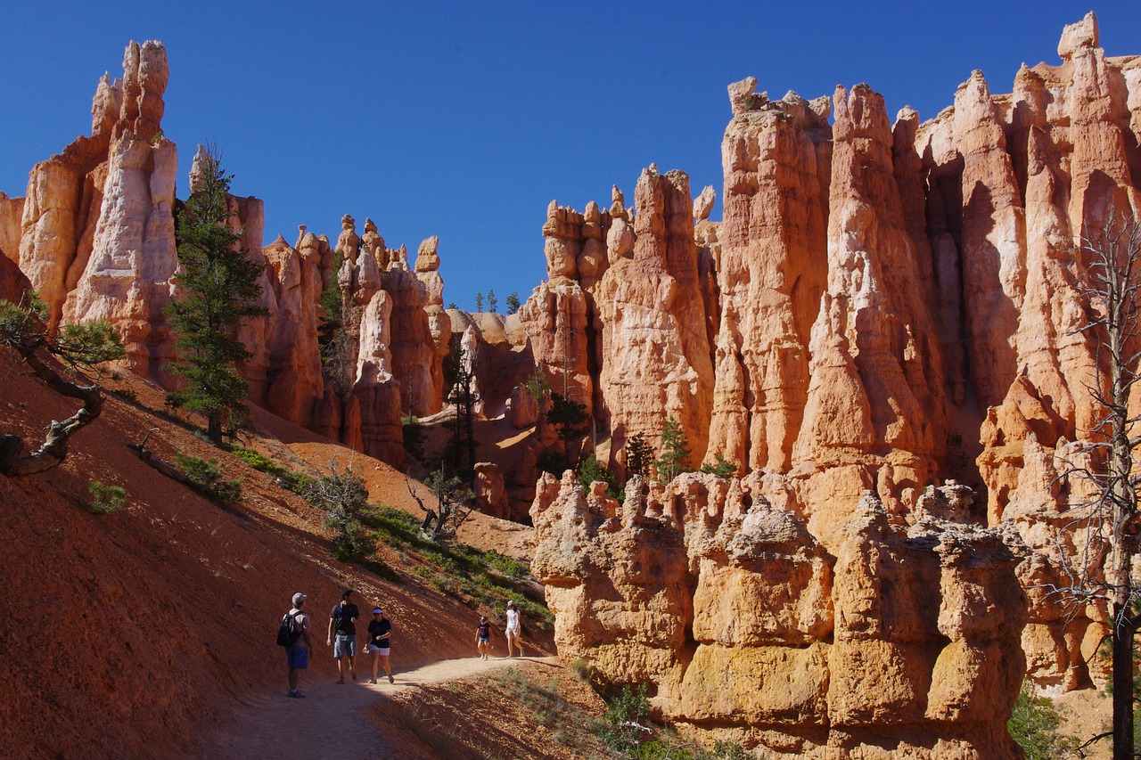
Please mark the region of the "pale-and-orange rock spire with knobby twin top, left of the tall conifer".
[[159, 375], [173, 345], [162, 316], [175, 272], [178, 151], [162, 136], [167, 51], [131, 42], [123, 78], [104, 75], [91, 136], [32, 169], [19, 265], [50, 324], [110, 320], [131, 367]]

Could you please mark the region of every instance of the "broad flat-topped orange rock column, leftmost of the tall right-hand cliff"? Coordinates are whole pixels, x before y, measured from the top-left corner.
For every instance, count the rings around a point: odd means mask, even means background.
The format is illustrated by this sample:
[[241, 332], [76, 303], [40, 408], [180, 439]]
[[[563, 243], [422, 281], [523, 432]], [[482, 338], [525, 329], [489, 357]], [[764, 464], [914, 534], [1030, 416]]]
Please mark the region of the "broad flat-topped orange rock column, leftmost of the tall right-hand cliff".
[[752, 98], [721, 143], [720, 330], [710, 448], [744, 468], [787, 470], [808, 399], [809, 332], [824, 291], [827, 99]]

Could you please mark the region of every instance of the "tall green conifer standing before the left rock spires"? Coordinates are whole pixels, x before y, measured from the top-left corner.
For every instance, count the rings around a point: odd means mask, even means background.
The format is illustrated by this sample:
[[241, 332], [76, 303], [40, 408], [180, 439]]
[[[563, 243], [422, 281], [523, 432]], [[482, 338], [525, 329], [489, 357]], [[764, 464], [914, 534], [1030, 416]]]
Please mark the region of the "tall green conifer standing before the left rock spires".
[[187, 199], [175, 220], [180, 292], [167, 307], [175, 330], [178, 361], [176, 374], [186, 386], [172, 391], [173, 406], [205, 412], [208, 436], [221, 444], [224, 426], [244, 419], [248, 382], [237, 363], [251, 356], [237, 339], [242, 320], [262, 316], [258, 276], [264, 266], [238, 244], [241, 235], [229, 227], [229, 184], [216, 151], [207, 155], [202, 186]]

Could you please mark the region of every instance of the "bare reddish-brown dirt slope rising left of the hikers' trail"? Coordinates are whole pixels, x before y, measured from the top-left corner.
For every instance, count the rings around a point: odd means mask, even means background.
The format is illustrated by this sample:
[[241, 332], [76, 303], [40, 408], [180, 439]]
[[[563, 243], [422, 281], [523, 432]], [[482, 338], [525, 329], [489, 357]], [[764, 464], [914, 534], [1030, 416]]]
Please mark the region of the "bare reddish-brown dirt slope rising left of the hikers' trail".
[[[38, 442], [66, 403], [0, 359], [0, 427]], [[0, 574], [9, 621], [0, 676], [0, 755], [194, 755], [251, 695], [284, 698], [285, 669], [273, 642], [290, 596], [304, 590], [318, 624], [338, 589], [351, 585], [385, 605], [397, 631], [397, 672], [471, 654], [475, 611], [397, 566], [399, 582], [335, 561], [319, 515], [273, 479], [219, 452], [183, 423], [155, 413], [162, 394], [130, 378], [112, 382], [102, 417], [74, 439], [63, 466], [37, 477], [0, 477]], [[127, 393], [123, 393], [127, 391]], [[319, 466], [346, 450], [258, 413], [256, 428], [277, 438], [250, 443], [292, 467]], [[172, 459], [218, 458], [243, 478], [243, 500], [222, 509], [144, 464], [127, 447]], [[372, 499], [414, 509], [391, 468], [353, 454]], [[289, 461], [289, 460], [286, 460]], [[88, 484], [129, 494], [126, 509], [94, 515]], [[507, 552], [525, 532], [472, 516], [464, 536]], [[502, 536], [507, 536], [505, 539]], [[390, 564], [396, 564], [396, 556]], [[534, 644], [550, 653], [549, 634]], [[318, 648], [305, 682], [334, 678]]]

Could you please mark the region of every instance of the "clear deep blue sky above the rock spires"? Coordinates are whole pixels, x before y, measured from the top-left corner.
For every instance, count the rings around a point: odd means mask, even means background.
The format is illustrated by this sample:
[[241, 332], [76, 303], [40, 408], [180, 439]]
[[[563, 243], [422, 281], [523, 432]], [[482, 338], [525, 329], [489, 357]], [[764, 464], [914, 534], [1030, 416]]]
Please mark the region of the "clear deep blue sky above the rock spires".
[[[551, 199], [632, 201], [650, 162], [721, 193], [726, 86], [772, 97], [868, 82], [921, 119], [981, 68], [1058, 63], [1092, 9], [1109, 55], [1141, 54], [1141, 1], [1076, 2], [102, 2], [10, 3], [0, 22], [0, 191], [90, 129], [104, 71], [131, 39], [167, 46], [165, 135], [178, 193], [216, 142], [234, 192], [266, 202], [266, 241], [331, 238], [351, 213], [389, 246], [439, 235], [444, 300], [501, 310], [545, 274]], [[720, 218], [720, 204], [714, 210]]]

